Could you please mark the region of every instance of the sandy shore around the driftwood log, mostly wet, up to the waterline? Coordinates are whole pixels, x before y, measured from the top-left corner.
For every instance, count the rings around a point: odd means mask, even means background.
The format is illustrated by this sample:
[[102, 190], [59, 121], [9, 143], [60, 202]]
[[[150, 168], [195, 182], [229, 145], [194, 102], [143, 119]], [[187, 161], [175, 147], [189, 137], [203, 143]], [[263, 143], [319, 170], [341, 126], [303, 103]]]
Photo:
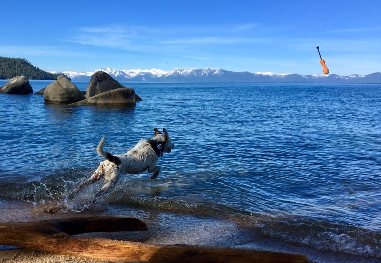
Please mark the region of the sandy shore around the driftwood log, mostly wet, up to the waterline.
[[[246, 229], [238, 223], [224, 218], [145, 211], [115, 205], [109, 205], [107, 209], [98, 211], [50, 214], [35, 209], [31, 203], [20, 201], [1, 201], [0, 209], [3, 212], [0, 217], [0, 223], [27, 222], [85, 215], [114, 215], [135, 217], [146, 222], [148, 226], [148, 231], [143, 232], [99, 232], [79, 235], [82, 237], [101, 237], [149, 244], [188, 244], [297, 253], [307, 255], [309, 262], [313, 263], [381, 263], [381, 259], [370, 259], [330, 251], [318, 251], [310, 247], [286, 243], [265, 236], [255, 229]], [[103, 263], [107, 261], [0, 246], [0, 262]]]

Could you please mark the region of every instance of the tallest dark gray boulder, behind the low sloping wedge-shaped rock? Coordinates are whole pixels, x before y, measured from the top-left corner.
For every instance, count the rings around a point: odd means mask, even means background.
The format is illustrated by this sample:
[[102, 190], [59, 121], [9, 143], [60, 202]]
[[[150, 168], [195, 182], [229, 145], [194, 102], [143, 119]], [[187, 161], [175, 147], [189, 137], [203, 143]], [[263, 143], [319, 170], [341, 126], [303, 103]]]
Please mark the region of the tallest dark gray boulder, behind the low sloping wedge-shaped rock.
[[92, 96], [98, 95], [100, 93], [118, 89], [125, 88], [118, 81], [114, 80], [109, 74], [103, 71], [98, 71], [93, 74], [88, 88], [86, 89], [85, 97], [90, 98]]

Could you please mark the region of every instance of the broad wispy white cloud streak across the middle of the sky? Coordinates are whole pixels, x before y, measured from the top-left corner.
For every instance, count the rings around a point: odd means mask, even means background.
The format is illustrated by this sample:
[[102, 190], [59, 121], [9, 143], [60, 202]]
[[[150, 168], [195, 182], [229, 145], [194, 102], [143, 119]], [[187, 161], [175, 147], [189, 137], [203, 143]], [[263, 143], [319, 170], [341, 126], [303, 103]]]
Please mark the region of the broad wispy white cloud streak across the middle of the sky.
[[180, 48], [184, 45], [229, 45], [266, 41], [248, 34], [256, 27], [256, 24], [170, 28], [104, 25], [80, 27], [66, 40], [84, 45], [143, 52], [173, 49], [174, 45]]

